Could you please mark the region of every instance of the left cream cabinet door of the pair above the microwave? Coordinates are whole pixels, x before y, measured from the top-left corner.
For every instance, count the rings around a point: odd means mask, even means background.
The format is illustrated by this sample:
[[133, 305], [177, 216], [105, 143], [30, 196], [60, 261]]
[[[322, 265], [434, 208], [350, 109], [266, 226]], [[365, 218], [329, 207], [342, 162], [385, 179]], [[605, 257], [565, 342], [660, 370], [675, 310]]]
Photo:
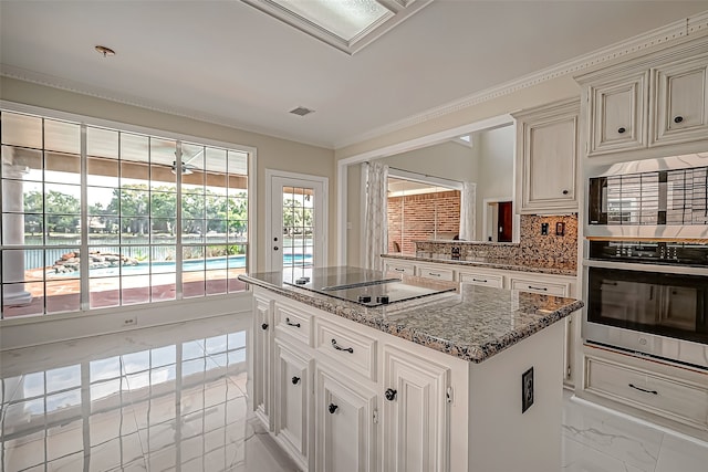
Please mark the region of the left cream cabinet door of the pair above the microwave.
[[646, 147], [646, 77], [642, 73], [589, 88], [589, 156]]

